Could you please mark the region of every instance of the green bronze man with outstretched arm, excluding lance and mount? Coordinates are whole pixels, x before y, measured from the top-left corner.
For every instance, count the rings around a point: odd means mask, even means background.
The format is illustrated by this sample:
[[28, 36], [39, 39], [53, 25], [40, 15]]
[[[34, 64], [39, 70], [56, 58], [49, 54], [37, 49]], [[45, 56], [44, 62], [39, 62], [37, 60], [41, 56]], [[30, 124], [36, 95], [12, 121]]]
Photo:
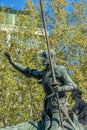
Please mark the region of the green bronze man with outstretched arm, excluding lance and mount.
[[[59, 127], [60, 124], [60, 117], [59, 117], [59, 106], [57, 104], [57, 98], [55, 95], [55, 91], [58, 92], [59, 95], [59, 103], [63, 111], [68, 112], [67, 109], [67, 101], [66, 101], [66, 91], [72, 91], [76, 89], [76, 84], [72, 81], [70, 76], [68, 75], [66, 68], [64, 66], [57, 66], [54, 61], [54, 52], [50, 50], [51, 58], [52, 58], [52, 64], [54, 67], [54, 72], [56, 76], [56, 80], [58, 85], [55, 88], [52, 86], [52, 74], [51, 74], [51, 68], [49, 63], [49, 57], [48, 57], [48, 51], [45, 50], [42, 53], [42, 60], [43, 65], [45, 66], [45, 69], [42, 71], [38, 71], [35, 69], [30, 69], [29, 67], [22, 66], [19, 63], [16, 63], [13, 61], [11, 55], [9, 53], [5, 53], [5, 56], [9, 60], [10, 64], [17, 69], [19, 72], [24, 74], [27, 77], [33, 77], [35, 79], [42, 79], [43, 88], [45, 91], [45, 99], [44, 99], [44, 111], [43, 111], [43, 120], [44, 120], [44, 130], [47, 130], [50, 128], [50, 130], [54, 130]], [[58, 89], [58, 90], [57, 90]], [[63, 114], [62, 114], [62, 120]]]

